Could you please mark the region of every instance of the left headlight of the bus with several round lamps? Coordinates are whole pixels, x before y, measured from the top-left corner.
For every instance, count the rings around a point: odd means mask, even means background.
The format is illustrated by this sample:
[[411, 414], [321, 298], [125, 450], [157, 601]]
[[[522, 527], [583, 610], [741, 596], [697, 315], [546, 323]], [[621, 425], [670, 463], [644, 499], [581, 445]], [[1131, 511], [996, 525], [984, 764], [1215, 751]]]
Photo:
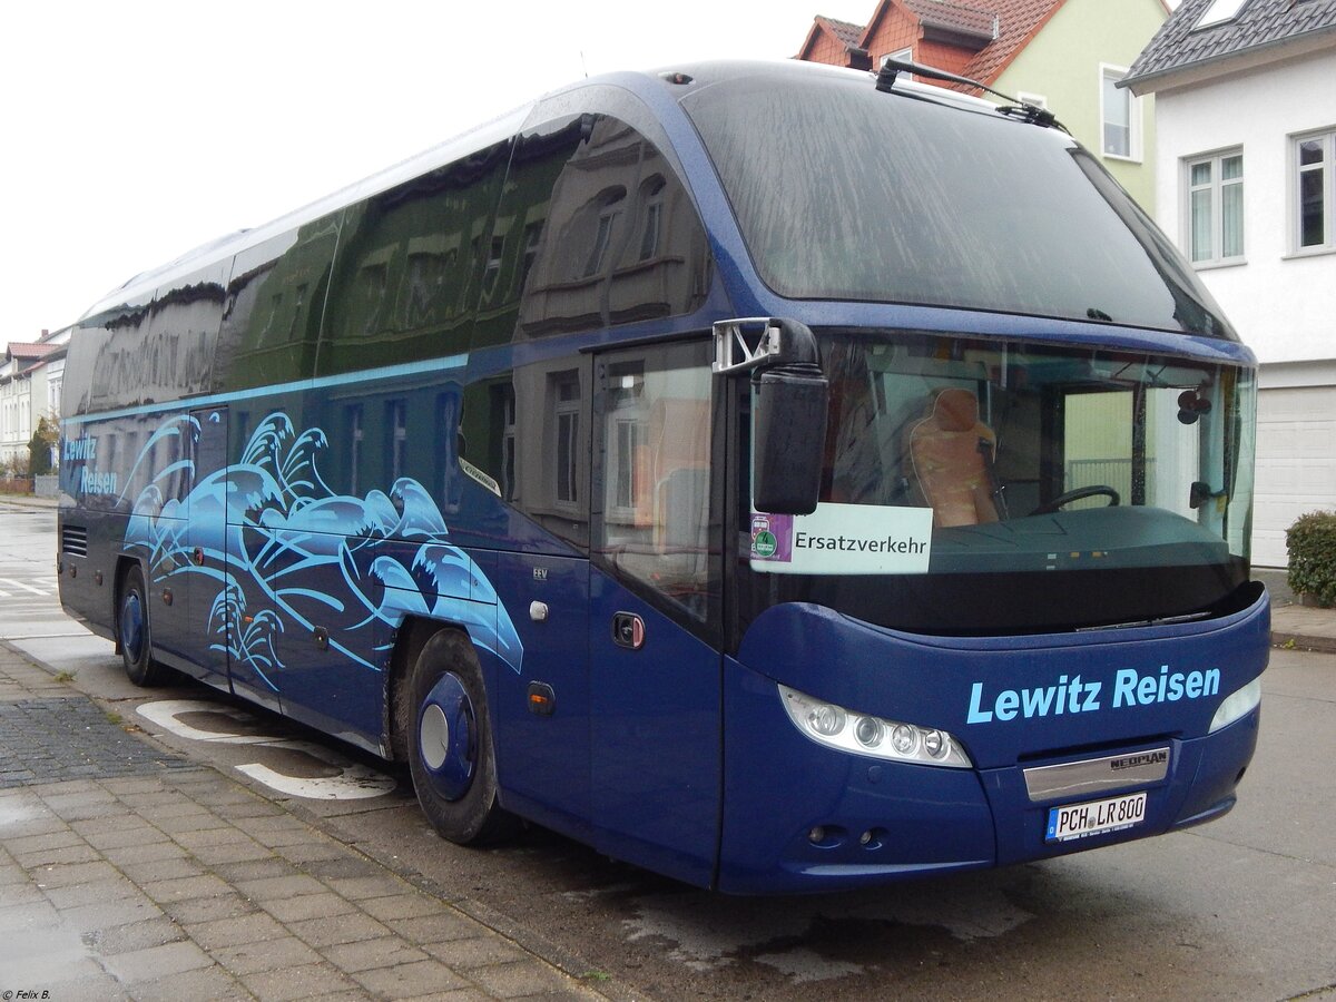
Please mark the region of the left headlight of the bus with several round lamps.
[[973, 767], [959, 741], [946, 731], [858, 713], [787, 685], [779, 687], [779, 697], [794, 725], [828, 748], [922, 766]]

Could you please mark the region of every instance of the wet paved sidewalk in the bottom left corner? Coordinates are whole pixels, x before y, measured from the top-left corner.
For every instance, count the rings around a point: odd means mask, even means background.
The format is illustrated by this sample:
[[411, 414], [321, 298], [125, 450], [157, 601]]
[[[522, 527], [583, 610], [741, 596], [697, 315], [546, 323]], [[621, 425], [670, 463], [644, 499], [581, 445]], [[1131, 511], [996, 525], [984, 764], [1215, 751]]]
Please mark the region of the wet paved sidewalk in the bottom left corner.
[[603, 998], [0, 645], [0, 997]]

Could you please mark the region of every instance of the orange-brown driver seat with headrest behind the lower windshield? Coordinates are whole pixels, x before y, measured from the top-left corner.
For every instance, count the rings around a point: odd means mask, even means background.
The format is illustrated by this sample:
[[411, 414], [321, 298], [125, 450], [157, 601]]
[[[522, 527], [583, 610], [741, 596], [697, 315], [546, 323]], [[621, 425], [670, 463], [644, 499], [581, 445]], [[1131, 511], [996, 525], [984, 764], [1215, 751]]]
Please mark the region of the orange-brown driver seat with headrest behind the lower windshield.
[[998, 521], [989, 473], [997, 434], [979, 421], [979, 399], [971, 390], [938, 393], [927, 415], [906, 433], [906, 445], [934, 528]]

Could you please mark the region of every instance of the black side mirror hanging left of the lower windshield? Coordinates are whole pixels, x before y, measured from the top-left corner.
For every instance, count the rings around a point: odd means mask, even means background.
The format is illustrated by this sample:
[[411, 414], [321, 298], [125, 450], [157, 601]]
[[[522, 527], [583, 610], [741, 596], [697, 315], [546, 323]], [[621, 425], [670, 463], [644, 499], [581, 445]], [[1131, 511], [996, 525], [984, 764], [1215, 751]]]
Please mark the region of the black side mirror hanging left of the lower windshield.
[[780, 367], [754, 385], [752, 504], [758, 512], [811, 514], [822, 486], [830, 383], [815, 367]]

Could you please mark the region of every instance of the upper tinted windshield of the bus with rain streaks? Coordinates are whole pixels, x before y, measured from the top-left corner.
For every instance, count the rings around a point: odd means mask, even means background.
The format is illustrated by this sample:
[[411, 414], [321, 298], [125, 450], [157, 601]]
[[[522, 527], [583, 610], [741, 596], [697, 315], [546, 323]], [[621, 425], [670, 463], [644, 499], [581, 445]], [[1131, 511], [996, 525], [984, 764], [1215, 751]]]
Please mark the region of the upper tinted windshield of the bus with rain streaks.
[[858, 73], [804, 83], [732, 79], [684, 102], [780, 295], [1237, 339], [1145, 212], [1061, 132], [880, 94]]

